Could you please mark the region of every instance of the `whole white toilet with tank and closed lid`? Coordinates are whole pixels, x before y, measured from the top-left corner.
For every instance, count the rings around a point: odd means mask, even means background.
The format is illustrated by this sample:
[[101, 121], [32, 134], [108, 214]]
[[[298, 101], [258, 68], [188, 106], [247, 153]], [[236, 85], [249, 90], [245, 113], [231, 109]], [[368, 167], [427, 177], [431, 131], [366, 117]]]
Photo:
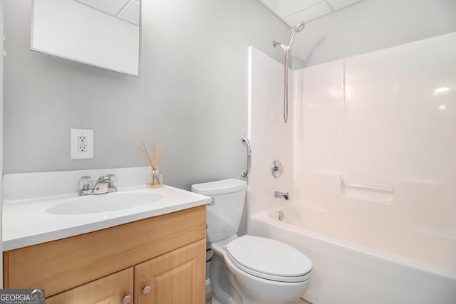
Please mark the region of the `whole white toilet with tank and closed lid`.
[[212, 197], [206, 232], [214, 251], [212, 304], [294, 303], [309, 286], [312, 262], [285, 243], [237, 236], [246, 191], [247, 182], [237, 179], [192, 185], [192, 192]]

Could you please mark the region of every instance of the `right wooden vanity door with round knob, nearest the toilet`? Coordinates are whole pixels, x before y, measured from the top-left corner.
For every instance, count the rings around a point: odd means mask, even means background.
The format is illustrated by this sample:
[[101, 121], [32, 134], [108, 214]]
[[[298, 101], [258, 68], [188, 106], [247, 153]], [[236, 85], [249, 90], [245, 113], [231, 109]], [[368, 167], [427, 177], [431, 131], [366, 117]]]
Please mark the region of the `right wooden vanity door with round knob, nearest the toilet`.
[[205, 252], [202, 239], [135, 266], [135, 303], [203, 304]]

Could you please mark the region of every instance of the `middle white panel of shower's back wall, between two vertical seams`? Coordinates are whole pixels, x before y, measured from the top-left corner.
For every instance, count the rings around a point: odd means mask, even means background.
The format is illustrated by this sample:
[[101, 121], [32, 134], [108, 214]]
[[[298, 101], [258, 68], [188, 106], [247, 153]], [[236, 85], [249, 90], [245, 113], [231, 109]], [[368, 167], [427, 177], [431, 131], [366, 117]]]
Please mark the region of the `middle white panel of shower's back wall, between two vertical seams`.
[[395, 48], [345, 60], [346, 182], [394, 186], [395, 89]]

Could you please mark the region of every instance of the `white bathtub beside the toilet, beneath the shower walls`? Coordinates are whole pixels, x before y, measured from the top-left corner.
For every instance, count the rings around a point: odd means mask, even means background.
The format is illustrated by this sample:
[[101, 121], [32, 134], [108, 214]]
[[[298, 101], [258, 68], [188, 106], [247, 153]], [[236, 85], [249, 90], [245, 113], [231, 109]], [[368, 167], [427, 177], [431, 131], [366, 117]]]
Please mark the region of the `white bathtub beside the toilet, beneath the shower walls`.
[[[375, 231], [356, 233], [349, 220], [339, 226], [332, 221], [324, 209], [284, 205], [252, 215], [248, 231], [288, 243], [311, 259], [314, 273], [302, 297], [311, 303], [456, 303], [456, 256], [449, 250], [455, 248], [456, 238], [435, 234], [435, 246], [442, 246], [437, 252], [445, 252], [432, 259], [427, 253], [413, 254], [414, 249], [423, 251], [423, 243], [421, 249], [408, 244], [393, 250], [401, 243], [394, 237], [389, 238], [391, 241], [376, 239], [370, 237]], [[411, 238], [412, 243], [419, 244], [423, 241], [420, 238], [426, 240], [430, 234], [412, 231], [402, 243]]]

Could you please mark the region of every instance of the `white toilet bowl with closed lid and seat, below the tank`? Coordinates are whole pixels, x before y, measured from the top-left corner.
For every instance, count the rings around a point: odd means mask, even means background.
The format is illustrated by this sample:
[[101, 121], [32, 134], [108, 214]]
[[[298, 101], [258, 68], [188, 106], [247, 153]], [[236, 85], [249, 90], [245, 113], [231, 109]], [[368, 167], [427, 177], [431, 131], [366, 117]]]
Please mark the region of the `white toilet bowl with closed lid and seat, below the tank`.
[[223, 258], [243, 304], [292, 303], [309, 286], [312, 263], [291, 246], [258, 236], [234, 237], [226, 245], [222, 243], [209, 247]]

